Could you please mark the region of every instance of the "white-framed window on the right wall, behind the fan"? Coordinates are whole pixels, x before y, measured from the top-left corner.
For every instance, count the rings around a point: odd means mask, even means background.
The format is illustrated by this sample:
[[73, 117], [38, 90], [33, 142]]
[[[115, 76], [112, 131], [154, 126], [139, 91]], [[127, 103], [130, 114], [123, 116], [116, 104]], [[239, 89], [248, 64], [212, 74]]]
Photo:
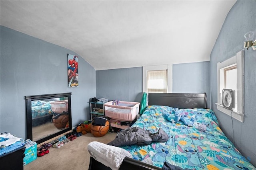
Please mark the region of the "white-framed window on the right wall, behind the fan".
[[[218, 71], [218, 102], [217, 109], [223, 113], [230, 115], [238, 121], [244, 121], [244, 51], [240, 51], [236, 56], [219, 62], [217, 64]], [[222, 106], [222, 89], [228, 88], [235, 92], [235, 108], [230, 111]], [[234, 113], [234, 114], [233, 114]]]

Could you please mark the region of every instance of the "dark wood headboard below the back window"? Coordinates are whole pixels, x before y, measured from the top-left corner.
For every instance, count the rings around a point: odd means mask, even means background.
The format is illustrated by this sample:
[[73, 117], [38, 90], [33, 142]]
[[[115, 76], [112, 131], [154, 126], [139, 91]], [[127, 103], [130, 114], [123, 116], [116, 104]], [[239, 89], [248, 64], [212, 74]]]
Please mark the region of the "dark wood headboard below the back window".
[[148, 105], [207, 108], [206, 93], [148, 93]]

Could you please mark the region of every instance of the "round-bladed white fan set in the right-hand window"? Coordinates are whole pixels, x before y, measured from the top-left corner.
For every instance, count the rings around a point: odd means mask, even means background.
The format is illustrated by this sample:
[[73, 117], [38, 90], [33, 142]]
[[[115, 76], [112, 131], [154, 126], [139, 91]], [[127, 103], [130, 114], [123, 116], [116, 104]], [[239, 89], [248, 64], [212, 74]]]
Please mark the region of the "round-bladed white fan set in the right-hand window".
[[227, 109], [232, 110], [234, 108], [235, 99], [232, 89], [223, 89], [222, 90], [222, 105]]

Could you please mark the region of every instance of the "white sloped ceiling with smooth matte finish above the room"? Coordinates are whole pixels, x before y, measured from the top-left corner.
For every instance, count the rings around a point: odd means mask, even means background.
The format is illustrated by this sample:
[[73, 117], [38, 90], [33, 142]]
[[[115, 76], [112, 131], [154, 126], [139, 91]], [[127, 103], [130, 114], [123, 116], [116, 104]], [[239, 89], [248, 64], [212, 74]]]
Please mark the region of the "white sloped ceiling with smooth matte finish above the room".
[[1, 25], [95, 70], [209, 61], [236, 0], [1, 0]]

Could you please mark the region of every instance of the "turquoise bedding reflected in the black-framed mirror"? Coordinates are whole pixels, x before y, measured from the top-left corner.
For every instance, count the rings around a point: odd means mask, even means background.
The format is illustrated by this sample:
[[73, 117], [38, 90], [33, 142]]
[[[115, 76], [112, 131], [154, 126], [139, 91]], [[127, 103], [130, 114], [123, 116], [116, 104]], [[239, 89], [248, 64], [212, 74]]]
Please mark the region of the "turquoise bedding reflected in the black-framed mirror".
[[52, 105], [50, 102], [45, 102], [42, 100], [31, 101], [32, 119], [37, 116], [43, 116], [52, 113]]

